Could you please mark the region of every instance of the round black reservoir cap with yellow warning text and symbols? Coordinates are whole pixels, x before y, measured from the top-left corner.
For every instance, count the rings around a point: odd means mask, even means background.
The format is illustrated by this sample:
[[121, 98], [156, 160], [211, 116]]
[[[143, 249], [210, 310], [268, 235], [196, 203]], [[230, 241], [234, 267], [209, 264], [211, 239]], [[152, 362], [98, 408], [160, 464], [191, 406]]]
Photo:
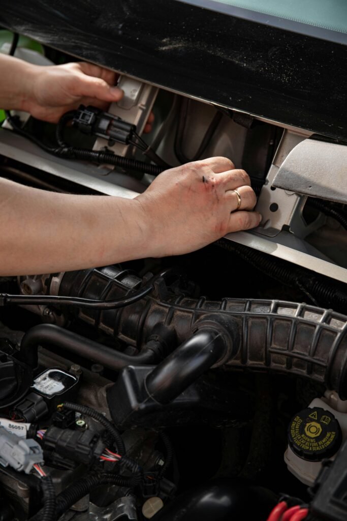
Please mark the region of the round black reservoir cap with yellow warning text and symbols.
[[336, 454], [342, 441], [338, 420], [321, 407], [303, 409], [295, 414], [288, 428], [291, 450], [308, 461], [321, 461]]

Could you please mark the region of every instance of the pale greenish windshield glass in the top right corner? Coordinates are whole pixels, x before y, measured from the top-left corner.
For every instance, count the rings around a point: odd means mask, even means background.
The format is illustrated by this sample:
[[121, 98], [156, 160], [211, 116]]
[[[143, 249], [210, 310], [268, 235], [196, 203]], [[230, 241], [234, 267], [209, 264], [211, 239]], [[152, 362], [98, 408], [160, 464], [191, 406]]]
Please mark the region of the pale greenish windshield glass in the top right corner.
[[274, 27], [347, 43], [347, 0], [183, 0]]

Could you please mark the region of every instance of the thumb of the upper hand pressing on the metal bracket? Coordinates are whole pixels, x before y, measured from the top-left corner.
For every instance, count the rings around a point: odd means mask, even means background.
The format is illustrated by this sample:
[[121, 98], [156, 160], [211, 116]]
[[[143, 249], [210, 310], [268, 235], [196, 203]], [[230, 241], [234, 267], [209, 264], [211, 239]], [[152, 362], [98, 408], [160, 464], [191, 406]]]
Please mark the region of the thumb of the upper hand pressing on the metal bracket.
[[123, 97], [123, 91], [117, 86], [109, 85], [101, 78], [81, 74], [75, 82], [73, 93], [75, 96], [94, 97], [100, 101], [117, 102]]

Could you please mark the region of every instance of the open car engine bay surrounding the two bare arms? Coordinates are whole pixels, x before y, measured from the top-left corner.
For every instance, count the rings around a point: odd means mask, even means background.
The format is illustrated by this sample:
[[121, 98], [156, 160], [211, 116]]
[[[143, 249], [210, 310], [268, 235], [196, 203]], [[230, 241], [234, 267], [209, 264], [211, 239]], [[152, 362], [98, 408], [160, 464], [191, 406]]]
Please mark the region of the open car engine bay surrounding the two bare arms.
[[[249, 173], [263, 220], [183, 256], [0, 279], [0, 517], [265, 519], [279, 502], [343, 519], [345, 186], [329, 199], [317, 182], [309, 196], [280, 176], [298, 146], [313, 143], [313, 157], [324, 141], [119, 84], [108, 116], [136, 126], [151, 155], [92, 123], [64, 125], [64, 139], [121, 166], [50, 155], [55, 128], [31, 119], [21, 135], [0, 129], [1, 175], [134, 197], [164, 165], [221, 155]], [[333, 145], [343, 163], [345, 145]]]

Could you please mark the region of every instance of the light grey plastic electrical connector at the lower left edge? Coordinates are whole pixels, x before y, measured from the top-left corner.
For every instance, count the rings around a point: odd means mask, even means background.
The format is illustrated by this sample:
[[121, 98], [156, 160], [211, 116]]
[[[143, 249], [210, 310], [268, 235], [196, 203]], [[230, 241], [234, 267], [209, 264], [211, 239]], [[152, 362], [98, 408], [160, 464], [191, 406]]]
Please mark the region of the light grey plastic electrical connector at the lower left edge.
[[32, 439], [19, 438], [0, 427], [0, 464], [29, 474], [35, 464], [43, 463], [41, 446]]

